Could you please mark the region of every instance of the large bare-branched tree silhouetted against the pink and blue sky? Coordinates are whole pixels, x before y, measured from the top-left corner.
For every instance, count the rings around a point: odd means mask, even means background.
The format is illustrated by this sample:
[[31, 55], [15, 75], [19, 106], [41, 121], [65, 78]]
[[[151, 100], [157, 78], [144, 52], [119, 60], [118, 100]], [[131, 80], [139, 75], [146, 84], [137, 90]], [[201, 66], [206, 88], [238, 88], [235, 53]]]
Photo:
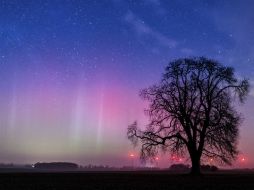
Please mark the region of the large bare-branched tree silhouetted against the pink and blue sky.
[[152, 159], [159, 150], [188, 156], [191, 173], [200, 173], [201, 159], [230, 164], [237, 155], [240, 115], [233, 107], [243, 102], [249, 83], [234, 69], [204, 57], [178, 59], [166, 67], [159, 84], [141, 91], [149, 102], [150, 123], [145, 130], [137, 122], [127, 136], [141, 142], [141, 158]]

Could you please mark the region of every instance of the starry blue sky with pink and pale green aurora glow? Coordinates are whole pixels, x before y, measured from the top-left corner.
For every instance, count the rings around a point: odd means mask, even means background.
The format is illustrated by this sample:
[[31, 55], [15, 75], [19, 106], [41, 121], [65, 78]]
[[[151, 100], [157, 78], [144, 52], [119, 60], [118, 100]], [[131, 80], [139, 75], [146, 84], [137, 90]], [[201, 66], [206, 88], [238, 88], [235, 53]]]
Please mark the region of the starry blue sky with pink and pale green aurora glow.
[[254, 167], [253, 10], [252, 0], [0, 0], [0, 162], [130, 164], [127, 126], [147, 123], [139, 90], [169, 61], [206, 56], [250, 80], [236, 107], [241, 166]]

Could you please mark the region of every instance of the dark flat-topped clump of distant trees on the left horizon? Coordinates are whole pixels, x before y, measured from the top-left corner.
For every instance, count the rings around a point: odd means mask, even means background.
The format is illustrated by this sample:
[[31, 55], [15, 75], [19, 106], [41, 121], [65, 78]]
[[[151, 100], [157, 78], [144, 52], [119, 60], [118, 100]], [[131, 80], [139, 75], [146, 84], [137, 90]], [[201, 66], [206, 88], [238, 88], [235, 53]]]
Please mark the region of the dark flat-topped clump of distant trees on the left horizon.
[[51, 170], [59, 170], [59, 169], [78, 169], [79, 166], [75, 163], [69, 162], [50, 162], [50, 163], [36, 163], [34, 164], [34, 168], [36, 169], [51, 169]]

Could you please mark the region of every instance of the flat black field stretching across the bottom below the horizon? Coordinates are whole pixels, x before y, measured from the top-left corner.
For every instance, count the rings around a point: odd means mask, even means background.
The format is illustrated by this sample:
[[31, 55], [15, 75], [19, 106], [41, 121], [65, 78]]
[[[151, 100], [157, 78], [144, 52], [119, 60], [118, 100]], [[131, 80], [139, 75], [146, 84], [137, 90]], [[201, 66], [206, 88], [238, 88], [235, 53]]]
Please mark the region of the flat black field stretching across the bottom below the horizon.
[[254, 189], [254, 174], [206, 174], [194, 177], [167, 172], [1, 173], [0, 190], [76, 189]]

